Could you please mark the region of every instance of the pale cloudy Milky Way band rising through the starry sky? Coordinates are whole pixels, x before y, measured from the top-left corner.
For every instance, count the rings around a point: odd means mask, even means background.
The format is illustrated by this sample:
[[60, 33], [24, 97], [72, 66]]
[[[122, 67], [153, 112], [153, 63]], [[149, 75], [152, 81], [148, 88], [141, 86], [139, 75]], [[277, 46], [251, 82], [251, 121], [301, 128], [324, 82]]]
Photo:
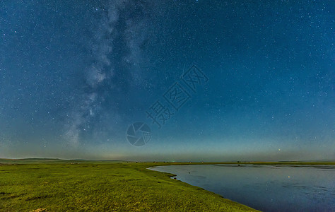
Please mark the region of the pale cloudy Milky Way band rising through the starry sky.
[[[148, 5], [146, 5], [148, 6]], [[146, 17], [132, 15], [129, 11], [143, 13], [143, 5], [131, 1], [108, 1], [103, 4], [102, 17], [93, 28], [94, 37], [91, 45], [92, 64], [85, 70], [86, 89], [81, 102], [78, 102], [69, 121], [69, 136], [71, 144], [78, 144], [82, 131], [97, 131], [94, 128], [95, 119], [103, 114], [102, 106], [106, 93], [114, 90], [114, 81], [119, 81], [115, 71], [127, 76], [127, 82], [141, 83], [141, 44], [146, 39]], [[98, 10], [98, 9], [97, 9]], [[126, 14], [124, 14], [126, 13]], [[134, 17], [133, 17], [134, 16]], [[120, 45], [119, 43], [123, 44]], [[121, 49], [118, 51], [118, 49]], [[116, 49], [116, 50], [115, 50]], [[115, 56], [115, 54], [119, 54]], [[106, 88], [107, 84], [107, 88]], [[109, 107], [112, 105], [109, 105]], [[114, 114], [114, 119], [117, 114]], [[102, 117], [98, 117], [102, 119]], [[92, 129], [93, 128], [93, 129]]]

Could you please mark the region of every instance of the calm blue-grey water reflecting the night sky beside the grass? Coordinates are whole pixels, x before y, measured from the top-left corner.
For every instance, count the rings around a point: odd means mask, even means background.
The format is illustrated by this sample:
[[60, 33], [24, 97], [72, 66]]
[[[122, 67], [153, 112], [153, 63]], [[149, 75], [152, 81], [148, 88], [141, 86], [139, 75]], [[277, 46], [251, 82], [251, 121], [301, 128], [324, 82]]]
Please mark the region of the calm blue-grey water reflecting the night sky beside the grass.
[[335, 166], [167, 165], [151, 170], [261, 211], [335, 211]]

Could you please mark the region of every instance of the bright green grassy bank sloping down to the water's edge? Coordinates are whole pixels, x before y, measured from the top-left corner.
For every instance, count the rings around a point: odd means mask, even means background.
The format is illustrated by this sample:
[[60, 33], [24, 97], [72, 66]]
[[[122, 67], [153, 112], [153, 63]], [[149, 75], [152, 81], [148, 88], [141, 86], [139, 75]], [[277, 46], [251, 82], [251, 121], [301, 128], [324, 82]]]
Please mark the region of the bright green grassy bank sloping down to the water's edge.
[[30, 160], [0, 161], [0, 211], [254, 211], [146, 169], [171, 163]]

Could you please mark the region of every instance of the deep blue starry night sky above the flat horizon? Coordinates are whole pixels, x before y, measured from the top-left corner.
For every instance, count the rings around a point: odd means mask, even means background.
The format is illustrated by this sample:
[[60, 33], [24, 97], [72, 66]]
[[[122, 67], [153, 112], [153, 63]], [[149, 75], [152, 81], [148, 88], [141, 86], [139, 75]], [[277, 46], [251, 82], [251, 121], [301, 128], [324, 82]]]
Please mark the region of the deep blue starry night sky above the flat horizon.
[[0, 158], [335, 160], [334, 14], [327, 0], [3, 0]]

